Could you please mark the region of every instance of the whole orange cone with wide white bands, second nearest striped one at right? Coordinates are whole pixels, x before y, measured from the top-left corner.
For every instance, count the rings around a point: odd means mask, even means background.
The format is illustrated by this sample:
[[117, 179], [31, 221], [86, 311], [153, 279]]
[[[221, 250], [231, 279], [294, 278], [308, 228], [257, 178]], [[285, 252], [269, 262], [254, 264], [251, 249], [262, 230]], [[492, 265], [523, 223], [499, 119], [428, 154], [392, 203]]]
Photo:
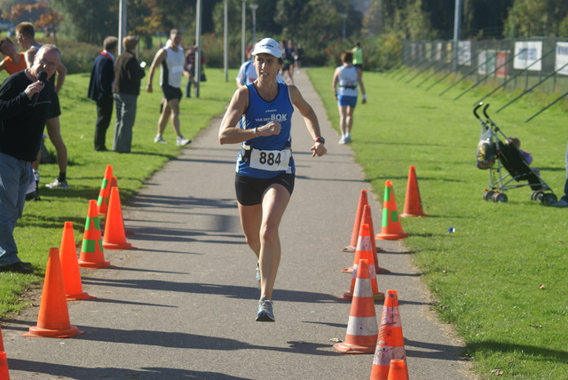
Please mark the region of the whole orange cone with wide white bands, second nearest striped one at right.
[[367, 260], [359, 260], [345, 341], [334, 344], [338, 352], [373, 353], [375, 351], [378, 330], [369, 267], [372, 268], [372, 265], [369, 265]]

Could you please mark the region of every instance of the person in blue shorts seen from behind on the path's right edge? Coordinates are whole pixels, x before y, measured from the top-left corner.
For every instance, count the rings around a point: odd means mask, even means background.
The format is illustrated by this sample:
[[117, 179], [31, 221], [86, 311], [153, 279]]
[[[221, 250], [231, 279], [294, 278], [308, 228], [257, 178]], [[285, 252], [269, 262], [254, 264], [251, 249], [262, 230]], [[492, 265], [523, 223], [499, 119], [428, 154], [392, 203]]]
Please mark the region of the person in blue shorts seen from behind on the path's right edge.
[[[357, 105], [357, 96], [359, 91], [357, 85], [363, 94], [362, 103], [367, 103], [367, 95], [365, 94], [365, 85], [361, 78], [361, 70], [353, 65], [353, 53], [351, 51], [343, 51], [341, 55], [343, 65], [335, 68], [332, 86], [337, 99], [337, 107], [339, 108], [339, 126], [341, 128], [341, 139], [339, 144], [349, 144], [351, 142], [351, 128], [353, 127], [353, 113]], [[339, 90], [337, 86], [339, 85]]]

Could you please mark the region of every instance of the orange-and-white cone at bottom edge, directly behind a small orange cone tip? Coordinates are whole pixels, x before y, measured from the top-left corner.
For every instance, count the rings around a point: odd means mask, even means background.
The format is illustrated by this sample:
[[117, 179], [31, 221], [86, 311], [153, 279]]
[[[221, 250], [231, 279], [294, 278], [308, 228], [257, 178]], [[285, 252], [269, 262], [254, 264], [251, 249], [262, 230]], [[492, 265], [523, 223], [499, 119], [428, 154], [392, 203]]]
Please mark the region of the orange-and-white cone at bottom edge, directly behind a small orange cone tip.
[[398, 313], [398, 292], [387, 290], [370, 379], [387, 380], [393, 359], [406, 360], [406, 350]]

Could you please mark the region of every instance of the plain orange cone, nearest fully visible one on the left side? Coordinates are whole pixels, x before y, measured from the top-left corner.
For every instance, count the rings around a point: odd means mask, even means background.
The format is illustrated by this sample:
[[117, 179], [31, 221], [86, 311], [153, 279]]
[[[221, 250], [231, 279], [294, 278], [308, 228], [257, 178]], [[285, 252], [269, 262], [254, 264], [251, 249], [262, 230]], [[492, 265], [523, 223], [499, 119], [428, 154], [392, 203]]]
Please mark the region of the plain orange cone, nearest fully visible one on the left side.
[[29, 328], [28, 334], [24, 336], [71, 337], [79, 334], [83, 334], [83, 331], [79, 331], [69, 323], [59, 249], [51, 248], [45, 269], [37, 325]]

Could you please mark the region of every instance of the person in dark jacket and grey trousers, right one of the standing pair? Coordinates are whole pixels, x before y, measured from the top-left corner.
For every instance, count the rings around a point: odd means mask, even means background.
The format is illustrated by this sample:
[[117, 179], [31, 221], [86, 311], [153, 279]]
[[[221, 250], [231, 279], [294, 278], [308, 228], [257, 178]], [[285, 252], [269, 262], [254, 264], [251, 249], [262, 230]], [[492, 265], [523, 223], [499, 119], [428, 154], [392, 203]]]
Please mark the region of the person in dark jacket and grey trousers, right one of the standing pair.
[[134, 53], [137, 45], [138, 40], [135, 36], [124, 37], [122, 39], [124, 51], [114, 65], [113, 97], [116, 104], [116, 123], [114, 123], [113, 150], [119, 153], [130, 153], [140, 83], [146, 75]]

